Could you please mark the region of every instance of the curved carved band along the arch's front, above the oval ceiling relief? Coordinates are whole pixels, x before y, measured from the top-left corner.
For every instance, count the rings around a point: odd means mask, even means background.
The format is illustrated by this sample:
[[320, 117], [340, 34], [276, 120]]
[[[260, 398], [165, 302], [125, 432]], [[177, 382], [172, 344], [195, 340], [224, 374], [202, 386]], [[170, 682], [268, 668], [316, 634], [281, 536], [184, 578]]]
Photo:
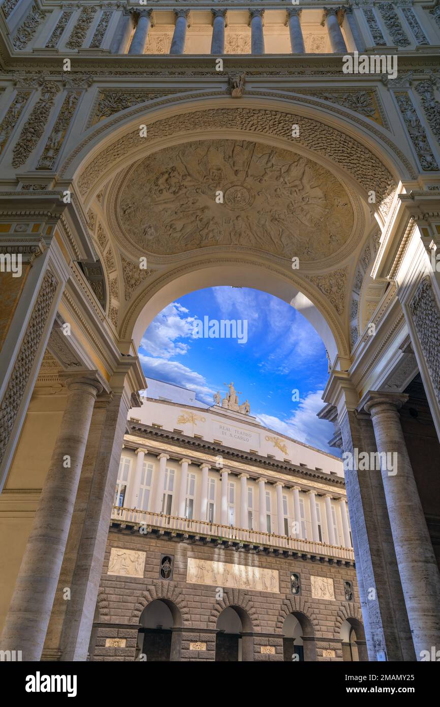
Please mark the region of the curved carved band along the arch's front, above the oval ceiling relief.
[[[295, 122], [301, 124], [301, 131], [298, 137], [292, 138], [292, 124]], [[393, 177], [379, 158], [367, 148], [349, 135], [317, 120], [277, 110], [256, 110], [246, 107], [237, 110], [227, 108], [203, 110], [162, 119], [148, 126], [146, 138], [141, 138], [138, 130], [126, 134], [114, 141], [112, 145], [107, 146], [87, 165], [78, 180], [81, 194], [85, 195], [90, 187], [102, 177], [102, 174], [107, 170], [107, 165], [114, 163], [122, 156], [126, 157], [128, 153], [141, 145], [145, 147], [149, 141], [197, 129], [224, 128], [244, 130], [256, 135], [268, 134], [292, 139], [295, 144], [301, 144], [311, 151], [334, 160], [341, 168], [347, 170], [364, 187], [366, 192], [374, 189], [381, 213], [388, 212], [387, 199], [395, 189]], [[218, 188], [220, 189], [220, 186]], [[295, 197], [295, 190], [293, 195]], [[242, 192], [242, 196], [244, 196], [244, 192]], [[136, 198], [139, 198], [139, 192]]]

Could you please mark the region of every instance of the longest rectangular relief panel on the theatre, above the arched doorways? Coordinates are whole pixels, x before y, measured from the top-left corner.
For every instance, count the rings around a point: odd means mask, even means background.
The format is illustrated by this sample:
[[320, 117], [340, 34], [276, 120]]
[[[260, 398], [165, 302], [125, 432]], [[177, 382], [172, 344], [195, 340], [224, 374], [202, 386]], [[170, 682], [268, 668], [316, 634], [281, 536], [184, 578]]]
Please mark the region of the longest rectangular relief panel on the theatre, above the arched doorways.
[[186, 581], [254, 592], [280, 592], [278, 570], [188, 558]]

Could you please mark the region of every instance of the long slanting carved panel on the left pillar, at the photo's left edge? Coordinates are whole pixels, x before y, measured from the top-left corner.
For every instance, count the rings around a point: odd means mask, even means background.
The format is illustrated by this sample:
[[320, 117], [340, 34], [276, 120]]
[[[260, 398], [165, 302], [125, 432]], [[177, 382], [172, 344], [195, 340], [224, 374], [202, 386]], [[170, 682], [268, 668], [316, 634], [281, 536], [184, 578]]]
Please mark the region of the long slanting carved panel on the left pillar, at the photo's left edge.
[[57, 293], [57, 279], [49, 270], [44, 274], [40, 291], [26, 329], [23, 343], [16, 358], [15, 366], [8, 382], [8, 387], [0, 406], [0, 462], [3, 460], [11, 432], [16, 421], [18, 409], [26, 385], [35, 363], [47, 317]]

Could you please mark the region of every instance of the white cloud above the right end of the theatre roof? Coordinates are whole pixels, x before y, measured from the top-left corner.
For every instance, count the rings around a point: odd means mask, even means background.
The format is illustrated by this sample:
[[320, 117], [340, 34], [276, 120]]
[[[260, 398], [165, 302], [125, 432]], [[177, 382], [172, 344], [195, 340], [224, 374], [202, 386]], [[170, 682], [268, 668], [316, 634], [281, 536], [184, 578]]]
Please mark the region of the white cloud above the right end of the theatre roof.
[[328, 446], [328, 440], [334, 433], [333, 424], [316, 417], [324, 405], [321, 399], [322, 393], [322, 390], [309, 393], [299, 402], [292, 415], [285, 420], [273, 415], [257, 414], [258, 420], [265, 427], [337, 456], [338, 450]]

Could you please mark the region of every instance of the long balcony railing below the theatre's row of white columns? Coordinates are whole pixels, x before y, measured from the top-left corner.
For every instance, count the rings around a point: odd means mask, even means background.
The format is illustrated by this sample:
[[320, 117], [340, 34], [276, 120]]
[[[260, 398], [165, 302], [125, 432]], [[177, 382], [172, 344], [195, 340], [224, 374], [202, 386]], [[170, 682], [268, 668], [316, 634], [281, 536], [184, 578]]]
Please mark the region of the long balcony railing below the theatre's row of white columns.
[[208, 522], [207, 520], [194, 520], [193, 518], [179, 518], [176, 515], [150, 513], [147, 510], [136, 510], [136, 508], [113, 506], [112, 520], [132, 523], [139, 527], [160, 528], [161, 530], [181, 532], [184, 534], [201, 535], [205, 537], [215, 536], [222, 540], [240, 542], [246, 545], [266, 545], [279, 548], [280, 550], [291, 550], [299, 554], [330, 557], [347, 562], [355, 561], [355, 555], [351, 547], [327, 545], [323, 542], [312, 542], [311, 540], [261, 532], [260, 530], [247, 530], [232, 525]]

